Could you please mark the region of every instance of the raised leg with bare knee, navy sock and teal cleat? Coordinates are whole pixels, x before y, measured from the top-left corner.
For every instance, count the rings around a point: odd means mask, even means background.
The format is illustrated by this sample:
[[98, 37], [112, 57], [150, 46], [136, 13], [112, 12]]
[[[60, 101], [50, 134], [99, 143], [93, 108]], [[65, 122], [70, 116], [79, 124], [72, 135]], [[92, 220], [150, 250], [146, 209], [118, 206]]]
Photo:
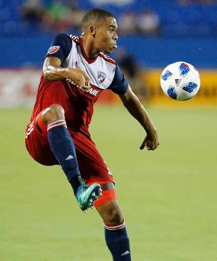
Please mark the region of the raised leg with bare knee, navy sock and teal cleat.
[[66, 174], [81, 210], [86, 211], [101, 193], [101, 188], [96, 183], [88, 187], [81, 179], [75, 145], [67, 129], [63, 107], [53, 104], [43, 110], [36, 117], [35, 127], [48, 139], [47, 148], [52, 151]]

